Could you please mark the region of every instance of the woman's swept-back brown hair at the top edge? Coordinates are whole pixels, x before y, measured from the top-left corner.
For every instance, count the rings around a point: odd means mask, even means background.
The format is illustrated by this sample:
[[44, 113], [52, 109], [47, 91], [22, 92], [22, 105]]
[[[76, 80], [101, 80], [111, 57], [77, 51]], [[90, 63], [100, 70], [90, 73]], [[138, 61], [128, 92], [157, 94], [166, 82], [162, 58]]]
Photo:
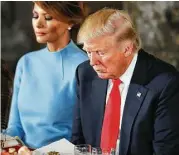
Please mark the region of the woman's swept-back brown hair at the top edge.
[[88, 15], [88, 7], [78, 1], [34, 1], [49, 14], [69, 24], [81, 24]]

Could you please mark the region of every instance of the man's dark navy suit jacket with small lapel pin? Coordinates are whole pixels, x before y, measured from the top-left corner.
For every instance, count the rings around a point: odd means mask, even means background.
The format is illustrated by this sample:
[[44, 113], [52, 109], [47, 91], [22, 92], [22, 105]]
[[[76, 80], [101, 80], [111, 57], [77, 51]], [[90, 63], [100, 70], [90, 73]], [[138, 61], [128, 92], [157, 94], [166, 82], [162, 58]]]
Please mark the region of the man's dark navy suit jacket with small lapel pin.
[[[100, 146], [108, 80], [100, 79], [89, 61], [78, 66], [76, 78], [72, 142]], [[129, 86], [120, 135], [119, 155], [179, 155], [178, 72], [143, 50]]]

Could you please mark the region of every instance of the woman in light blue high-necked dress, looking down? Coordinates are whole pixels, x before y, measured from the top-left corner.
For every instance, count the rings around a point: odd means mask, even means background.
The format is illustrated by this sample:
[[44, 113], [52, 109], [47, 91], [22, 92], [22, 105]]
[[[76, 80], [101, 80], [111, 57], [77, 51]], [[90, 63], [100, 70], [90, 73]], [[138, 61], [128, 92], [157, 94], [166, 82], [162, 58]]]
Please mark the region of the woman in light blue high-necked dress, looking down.
[[47, 46], [17, 64], [7, 129], [30, 148], [71, 138], [75, 71], [88, 58], [70, 39], [70, 30], [84, 16], [82, 2], [34, 2], [36, 39]]

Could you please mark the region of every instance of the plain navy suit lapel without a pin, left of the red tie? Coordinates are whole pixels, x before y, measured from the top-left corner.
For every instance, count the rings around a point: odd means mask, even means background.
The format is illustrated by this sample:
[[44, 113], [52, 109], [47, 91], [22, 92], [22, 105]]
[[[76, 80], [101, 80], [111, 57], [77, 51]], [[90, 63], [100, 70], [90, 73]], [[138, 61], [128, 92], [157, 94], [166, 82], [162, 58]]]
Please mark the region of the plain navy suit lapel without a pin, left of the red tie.
[[107, 84], [108, 80], [102, 80], [98, 76], [95, 77], [92, 83], [92, 108], [94, 111], [93, 125], [95, 126], [93, 129], [93, 134], [96, 135], [95, 143], [96, 145], [100, 145], [101, 139], [101, 128], [103, 124], [104, 110], [106, 104], [106, 94], [107, 94]]

